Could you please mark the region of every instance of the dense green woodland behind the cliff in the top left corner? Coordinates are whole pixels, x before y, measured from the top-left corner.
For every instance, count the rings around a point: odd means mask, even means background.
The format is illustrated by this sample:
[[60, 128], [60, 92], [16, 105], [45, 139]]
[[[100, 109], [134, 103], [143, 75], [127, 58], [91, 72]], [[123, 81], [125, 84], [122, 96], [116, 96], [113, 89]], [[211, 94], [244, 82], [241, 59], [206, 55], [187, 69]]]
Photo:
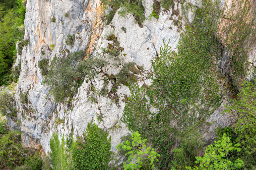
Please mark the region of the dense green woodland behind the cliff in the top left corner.
[[16, 60], [16, 43], [24, 38], [25, 13], [22, 0], [0, 1], [0, 86], [13, 81], [12, 65]]

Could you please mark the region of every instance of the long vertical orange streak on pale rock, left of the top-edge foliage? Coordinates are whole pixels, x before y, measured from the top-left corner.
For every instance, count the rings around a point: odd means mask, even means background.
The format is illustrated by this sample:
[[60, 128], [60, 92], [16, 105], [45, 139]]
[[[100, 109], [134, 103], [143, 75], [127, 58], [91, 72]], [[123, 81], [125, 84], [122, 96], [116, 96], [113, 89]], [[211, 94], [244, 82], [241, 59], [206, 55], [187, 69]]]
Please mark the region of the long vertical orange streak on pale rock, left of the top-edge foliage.
[[[86, 12], [88, 11], [92, 11], [90, 9], [90, 7], [87, 8]], [[100, 37], [100, 34], [93, 34], [94, 30], [96, 29], [102, 29], [103, 28], [103, 24], [100, 25], [102, 22], [102, 18], [100, 17], [103, 13], [103, 7], [100, 6], [99, 8], [96, 8], [96, 18], [97, 20], [95, 20], [95, 23], [93, 23], [93, 28], [92, 28], [92, 34], [91, 34], [91, 38], [90, 38], [90, 43], [86, 49], [86, 54], [91, 54], [93, 52], [92, 46], [95, 45], [95, 48], [97, 47], [97, 44], [95, 43], [95, 40], [98, 40], [98, 38]]]

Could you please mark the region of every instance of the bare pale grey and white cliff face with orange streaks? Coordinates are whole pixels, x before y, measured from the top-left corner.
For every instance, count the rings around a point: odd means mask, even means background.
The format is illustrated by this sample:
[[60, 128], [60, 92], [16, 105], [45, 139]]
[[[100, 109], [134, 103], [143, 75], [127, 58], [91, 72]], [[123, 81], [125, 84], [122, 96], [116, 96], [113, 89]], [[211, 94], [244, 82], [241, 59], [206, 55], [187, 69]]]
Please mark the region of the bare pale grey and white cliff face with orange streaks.
[[[153, 0], [143, 1], [146, 18], [153, 11], [153, 4]], [[196, 9], [195, 2], [190, 4]], [[93, 93], [91, 87], [94, 86], [98, 90], [103, 88], [104, 80], [99, 74], [99, 78], [83, 82], [71, 105], [57, 104], [47, 95], [49, 89], [42, 85], [43, 77], [38, 62], [43, 58], [51, 60], [55, 55], [63, 57], [78, 50], [93, 52], [92, 55], [102, 54], [102, 49], [110, 43], [107, 36], [113, 34], [117, 37], [119, 46], [123, 48], [122, 54], [126, 54], [125, 61], [134, 61], [138, 66], [144, 66], [144, 70], [138, 74], [139, 87], [144, 84], [150, 85], [149, 73], [153, 71], [152, 57], [159, 53], [163, 41], [166, 43], [169, 41], [171, 49], [176, 50], [185, 22], [193, 21], [193, 10], [186, 12], [188, 19], [186, 21], [181, 15], [179, 2], [175, 2], [174, 8], [161, 9], [158, 19], [152, 17], [140, 26], [132, 15], [121, 17], [118, 13], [115, 14], [110, 25], [104, 26], [100, 0], [28, 0], [26, 8], [25, 39], [30, 43], [23, 48], [22, 55], [18, 56], [16, 61], [16, 65], [20, 61], [22, 63], [15, 95], [21, 124], [9, 118], [10, 126], [22, 131], [25, 143], [29, 145], [33, 141], [34, 146], [41, 143], [47, 153], [50, 151], [49, 140], [53, 131], [61, 136], [71, 132], [74, 132], [75, 136], [81, 136], [87, 124], [93, 119], [99, 127], [110, 130], [112, 151], [115, 151], [120, 137], [130, 132], [120, 121], [125, 106], [122, 99], [130, 94], [129, 88], [121, 85], [111, 97], [96, 96], [97, 103], [92, 103], [89, 98]], [[75, 35], [73, 47], [66, 44], [68, 35]], [[53, 50], [50, 45], [55, 46]], [[225, 70], [228, 67], [228, 55], [224, 53], [221, 60], [220, 69]], [[250, 60], [253, 63], [255, 57], [251, 55]], [[106, 72], [115, 75], [119, 70], [113, 69], [110, 65]], [[108, 91], [111, 90], [112, 85], [109, 81]], [[24, 94], [27, 96], [27, 101], [22, 103], [21, 97]], [[113, 102], [114, 96], [119, 100]], [[214, 131], [219, 125], [229, 126], [235, 121], [234, 115], [222, 114], [227, 100], [224, 96], [221, 106], [209, 118], [213, 124], [205, 125], [203, 133], [208, 143], [214, 140], [216, 136]], [[63, 120], [63, 123], [56, 123], [57, 118]]]

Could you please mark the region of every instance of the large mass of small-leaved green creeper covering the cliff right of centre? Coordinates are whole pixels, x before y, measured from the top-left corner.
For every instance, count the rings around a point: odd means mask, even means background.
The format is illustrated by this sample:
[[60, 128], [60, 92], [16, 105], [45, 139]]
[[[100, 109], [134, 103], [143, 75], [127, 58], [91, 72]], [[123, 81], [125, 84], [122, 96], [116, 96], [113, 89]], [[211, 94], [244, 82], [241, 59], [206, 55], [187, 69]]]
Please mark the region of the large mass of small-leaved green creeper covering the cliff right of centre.
[[[218, 57], [220, 47], [215, 37], [219, 4], [204, 1], [202, 5], [204, 15], [196, 16], [193, 26], [187, 26], [181, 34], [177, 53], [170, 51], [168, 43], [160, 49], [153, 61], [152, 85], [141, 89], [132, 87], [132, 95], [127, 98], [123, 110], [122, 121], [129, 129], [139, 131], [160, 151], [160, 169], [171, 162], [173, 132], [177, 134], [189, 126], [199, 127], [220, 105], [222, 95], [213, 57]], [[156, 111], [150, 111], [151, 108]], [[184, 161], [187, 159], [191, 163], [195, 152], [188, 149], [190, 146], [185, 147], [185, 143], [181, 142], [176, 156], [182, 157], [189, 152]], [[185, 164], [179, 160], [179, 164]]]

